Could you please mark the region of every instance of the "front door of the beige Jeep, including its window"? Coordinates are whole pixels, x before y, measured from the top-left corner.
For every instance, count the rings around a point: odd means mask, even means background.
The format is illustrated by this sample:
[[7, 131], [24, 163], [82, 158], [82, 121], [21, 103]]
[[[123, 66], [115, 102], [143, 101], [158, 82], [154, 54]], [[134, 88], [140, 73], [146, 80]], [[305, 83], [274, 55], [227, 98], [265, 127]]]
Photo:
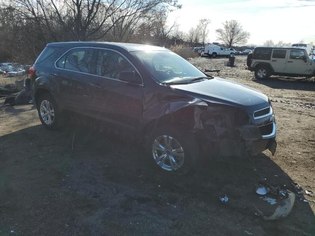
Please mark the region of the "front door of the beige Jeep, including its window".
[[304, 50], [290, 50], [289, 57], [285, 66], [285, 73], [291, 74], [311, 74], [307, 71], [308, 61], [305, 62], [303, 57], [305, 55]]

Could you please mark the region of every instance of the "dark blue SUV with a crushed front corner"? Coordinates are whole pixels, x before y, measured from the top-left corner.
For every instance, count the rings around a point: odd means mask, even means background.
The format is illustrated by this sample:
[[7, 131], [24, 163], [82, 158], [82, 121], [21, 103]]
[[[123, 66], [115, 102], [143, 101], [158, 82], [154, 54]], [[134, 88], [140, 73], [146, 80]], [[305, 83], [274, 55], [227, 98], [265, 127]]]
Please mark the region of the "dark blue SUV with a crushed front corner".
[[202, 153], [276, 150], [276, 122], [266, 95], [206, 75], [165, 48], [50, 43], [30, 76], [46, 128], [60, 128], [68, 111], [94, 118], [142, 141], [148, 160], [167, 172], [186, 173]]

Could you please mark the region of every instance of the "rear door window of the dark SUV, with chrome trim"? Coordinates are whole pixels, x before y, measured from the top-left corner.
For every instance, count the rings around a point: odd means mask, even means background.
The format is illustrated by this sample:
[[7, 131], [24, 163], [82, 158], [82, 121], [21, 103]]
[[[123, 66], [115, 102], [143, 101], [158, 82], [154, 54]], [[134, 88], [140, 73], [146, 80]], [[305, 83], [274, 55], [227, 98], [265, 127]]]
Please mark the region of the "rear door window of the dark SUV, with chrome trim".
[[96, 50], [91, 48], [72, 49], [57, 61], [57, 67], [94, 74], [94, 65], [92, 63], [92, 59], [95, 52]]

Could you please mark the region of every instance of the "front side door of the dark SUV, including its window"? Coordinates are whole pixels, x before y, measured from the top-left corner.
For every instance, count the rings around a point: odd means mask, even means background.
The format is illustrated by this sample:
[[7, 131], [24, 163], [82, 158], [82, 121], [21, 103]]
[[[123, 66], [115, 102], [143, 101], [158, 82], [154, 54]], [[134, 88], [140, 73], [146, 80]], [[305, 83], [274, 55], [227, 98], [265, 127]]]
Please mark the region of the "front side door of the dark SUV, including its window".
[[138, 129], [142, 118], [143, 83], [131, 84], [119, 79], [120, 72], [135, 71], [135, 67], [122, 54], [99, 49], [96, 61], [91, 99], [93, 117], [113, 124], [115, 129]]

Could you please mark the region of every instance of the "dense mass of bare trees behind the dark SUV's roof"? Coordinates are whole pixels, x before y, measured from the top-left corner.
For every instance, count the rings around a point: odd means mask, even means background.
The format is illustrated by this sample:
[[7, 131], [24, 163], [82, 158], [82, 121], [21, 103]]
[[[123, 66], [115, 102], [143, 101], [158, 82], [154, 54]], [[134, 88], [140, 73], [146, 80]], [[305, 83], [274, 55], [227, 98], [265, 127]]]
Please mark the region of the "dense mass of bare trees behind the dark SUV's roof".
[[[78, 40], [151, 41], [153, 27], [178, 0], [1, 0], [0, 51], [34, 59], [48, 42]], [[164, 15], [161, 19], [158, 13]], [[5, 40], [5, 43], [3, 41]], [[23, 44], [23, 47], [21, 45]], [[3, 51], [2, 51], [3, 50]]]

